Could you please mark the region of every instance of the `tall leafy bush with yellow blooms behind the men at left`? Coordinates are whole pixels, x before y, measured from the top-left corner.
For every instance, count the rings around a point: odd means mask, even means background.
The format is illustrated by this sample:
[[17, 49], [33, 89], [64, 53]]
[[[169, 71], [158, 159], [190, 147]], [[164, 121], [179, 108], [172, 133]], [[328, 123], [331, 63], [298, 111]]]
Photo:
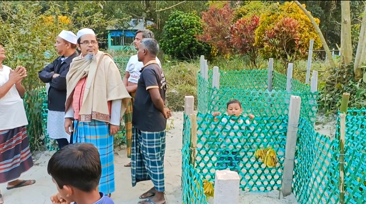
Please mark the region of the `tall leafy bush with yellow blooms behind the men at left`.
[[23, 80], [27, 97], [25, 99], [30, 125], [30, 140], [36, 142], [33, 150], [43, 144], [42, 111], [43, 99], [38, 88], [44, 84], [38, 79], [38, 71], [45, 62], [52, 62], [57, 56], [55, 39], [61, 30], [76, 33], [83, 27], [98, 29], [114, 25], [117, 20], [101, 13], [105, 1], [68, 2], [46, 1], [1, 1], [0, 42], [4, 45], [7, 59], [3, 62], [15, 68], [27, 68], [28, 76]]

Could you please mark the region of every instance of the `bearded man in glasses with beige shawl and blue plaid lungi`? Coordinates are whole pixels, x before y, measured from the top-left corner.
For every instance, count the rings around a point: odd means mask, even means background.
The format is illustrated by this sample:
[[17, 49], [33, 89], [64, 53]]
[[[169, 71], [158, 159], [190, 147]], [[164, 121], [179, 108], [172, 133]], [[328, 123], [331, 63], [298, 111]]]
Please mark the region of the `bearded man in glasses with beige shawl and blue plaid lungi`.
[[[91, 143], [98, 149], [102, 165], [99, 192], [115, 191], [113, 135], [119, 130], [127, 104], [131, 101], [112, 56], [98, 50], [93, 30], [78, 31], [81, 54], [72, 60], [66, 75], [65, 131], [73, 142]], [[74, 125], [72, 125], [74, 120]]]

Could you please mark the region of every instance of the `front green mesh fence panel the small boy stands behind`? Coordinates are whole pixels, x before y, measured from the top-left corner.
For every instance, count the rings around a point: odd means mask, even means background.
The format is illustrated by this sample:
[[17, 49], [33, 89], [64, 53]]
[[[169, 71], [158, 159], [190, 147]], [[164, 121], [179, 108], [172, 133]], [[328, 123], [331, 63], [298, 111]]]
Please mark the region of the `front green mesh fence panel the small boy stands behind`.
[[282, 164], [286, 144], [287, 118], [197, 115], [196, 168], [203, 179], [214, 181], [216, 170], [227, 168], [239, 173], [240, 188], [267, 192], [281, 186], [282, 168], [269, 168], [254, 157], [256, 149], [272, 147]]

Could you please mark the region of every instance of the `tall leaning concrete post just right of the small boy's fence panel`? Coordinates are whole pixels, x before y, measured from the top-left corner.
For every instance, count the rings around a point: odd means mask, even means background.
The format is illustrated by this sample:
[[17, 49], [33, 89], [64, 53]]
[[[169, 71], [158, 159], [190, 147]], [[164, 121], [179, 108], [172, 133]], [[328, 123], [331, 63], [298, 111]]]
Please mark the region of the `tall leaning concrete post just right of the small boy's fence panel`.
[[299, 96], [291, 96], [290, 106], [288, 108], [288, 128], [286, 135], [285, 162], [283, 165], [282, 175], [282, 194], [284, 197], [290, 195], [292, 189], [296, 140], [300, 118], [300, 105], [301, 98]]

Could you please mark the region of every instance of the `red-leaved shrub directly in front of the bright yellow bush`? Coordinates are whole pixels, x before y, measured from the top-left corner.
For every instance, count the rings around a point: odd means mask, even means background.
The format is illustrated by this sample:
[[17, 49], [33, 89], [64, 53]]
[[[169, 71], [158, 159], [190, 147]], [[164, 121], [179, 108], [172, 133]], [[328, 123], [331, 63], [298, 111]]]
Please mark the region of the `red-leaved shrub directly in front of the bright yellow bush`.
[[265, 31], [264, 50], [268, 53], [266, 58], [280, 59], [287, 67], [287, 63], [303, 58], [307, 51], [300, 46], [299, 22], [293, 18], [285, 17], [275, 26]]

